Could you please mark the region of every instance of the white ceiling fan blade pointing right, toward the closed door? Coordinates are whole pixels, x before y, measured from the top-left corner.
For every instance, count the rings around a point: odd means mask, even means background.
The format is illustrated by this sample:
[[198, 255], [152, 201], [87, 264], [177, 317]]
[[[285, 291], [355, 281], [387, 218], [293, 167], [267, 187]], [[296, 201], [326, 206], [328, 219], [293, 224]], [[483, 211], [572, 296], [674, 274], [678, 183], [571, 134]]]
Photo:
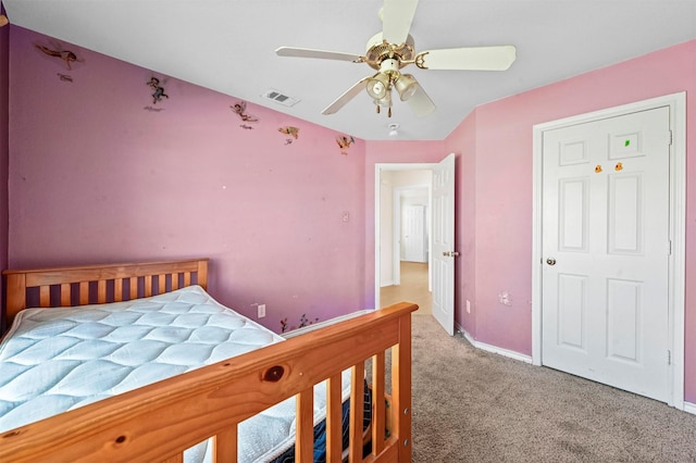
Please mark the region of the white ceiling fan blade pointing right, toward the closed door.
[[427, 70], [506, 71], [514, 62], [517, 50], [511, 45], [430, 50], [419, 53]]

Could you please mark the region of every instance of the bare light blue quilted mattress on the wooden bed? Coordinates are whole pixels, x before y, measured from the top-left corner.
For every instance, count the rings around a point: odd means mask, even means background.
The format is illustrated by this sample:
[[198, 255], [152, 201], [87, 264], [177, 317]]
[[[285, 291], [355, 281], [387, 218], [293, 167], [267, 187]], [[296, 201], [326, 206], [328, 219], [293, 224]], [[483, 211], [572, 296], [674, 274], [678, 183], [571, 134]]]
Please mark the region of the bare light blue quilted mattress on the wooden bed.
[[[199, 286], [110, 304], [22, 311], [0, 343], [0, 433], [284, 339]], [[343, 375], [343, 399], [350, 391]], [[314, 387], [314, 424], [325, 418]], [[295, 398], [238, 426], [238, 460], [270, 461], [295, 442]], [[185, 452], [210, 461], [209, 442]]]

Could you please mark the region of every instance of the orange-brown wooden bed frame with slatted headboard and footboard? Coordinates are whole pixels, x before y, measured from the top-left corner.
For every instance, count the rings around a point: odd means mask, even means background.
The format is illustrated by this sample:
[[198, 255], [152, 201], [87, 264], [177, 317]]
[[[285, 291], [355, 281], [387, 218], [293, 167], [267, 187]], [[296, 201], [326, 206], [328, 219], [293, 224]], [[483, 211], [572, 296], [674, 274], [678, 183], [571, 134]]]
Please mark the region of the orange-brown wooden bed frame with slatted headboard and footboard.
[[[191, 283], [206, 288], [208, 259], [2, 274], [7, 277], [5, 316], [12, 320], [25, 309], [30, 288], [39, 288], [38, 305], [47, 308], [129, 300]], [[0, 461], [181, 462], [184, 450], [212, 437], [214, 461], [236, 462], [237, 424], [295, 396], [296, 459], [311, 462], [312, 391], [327, 379], [327, 462], [339, 462], [340, 373], [351, 368], [349, 461], [410, 462], [411, 312], [417, 309], [411, 303], [395, 304], [4, 431]], [[391, 405], [373, 400], [372, 452], [363, 458], [359, 423], [365, 362], [371, 359], [374, 397], [384, 397], [389, 348]]]

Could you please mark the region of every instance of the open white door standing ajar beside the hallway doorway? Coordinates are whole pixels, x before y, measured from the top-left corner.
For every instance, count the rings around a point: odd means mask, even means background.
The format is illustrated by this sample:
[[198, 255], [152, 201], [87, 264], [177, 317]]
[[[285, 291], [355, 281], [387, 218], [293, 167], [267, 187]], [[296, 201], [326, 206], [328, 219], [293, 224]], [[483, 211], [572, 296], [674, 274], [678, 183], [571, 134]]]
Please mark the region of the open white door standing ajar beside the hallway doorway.
[[455, 334], [455, 154], [433, 168], [433, 316]]

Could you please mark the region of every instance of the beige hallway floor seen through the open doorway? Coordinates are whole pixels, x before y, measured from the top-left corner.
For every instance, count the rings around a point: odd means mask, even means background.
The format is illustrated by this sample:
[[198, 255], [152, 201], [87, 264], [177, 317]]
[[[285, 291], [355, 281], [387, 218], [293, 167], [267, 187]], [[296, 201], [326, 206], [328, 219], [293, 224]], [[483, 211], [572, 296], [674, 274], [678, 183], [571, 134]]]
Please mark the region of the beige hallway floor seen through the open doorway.
[[401, 262], [401, 284], [385, 286], [380, 290], [382, 306], [397, 302], [418, 304], [418, 314], [433, 313], [433, 295], [427, 289], [427, 263]]

